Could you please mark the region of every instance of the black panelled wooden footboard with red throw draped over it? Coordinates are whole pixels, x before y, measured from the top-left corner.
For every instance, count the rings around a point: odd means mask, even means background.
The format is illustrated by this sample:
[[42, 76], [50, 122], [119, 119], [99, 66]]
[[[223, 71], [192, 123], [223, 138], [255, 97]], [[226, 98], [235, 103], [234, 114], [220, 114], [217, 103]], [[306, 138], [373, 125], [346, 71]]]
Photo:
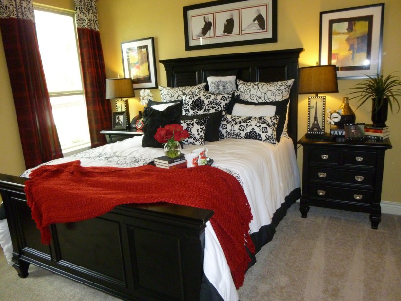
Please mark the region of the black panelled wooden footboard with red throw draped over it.
[[20, 277], [35, 264], [126, 300], [199, 300], [210, 210], [121, 205], [97, 218], [53, 224], [49, 246], [31, 219], [25, 178], [0, 174]]

